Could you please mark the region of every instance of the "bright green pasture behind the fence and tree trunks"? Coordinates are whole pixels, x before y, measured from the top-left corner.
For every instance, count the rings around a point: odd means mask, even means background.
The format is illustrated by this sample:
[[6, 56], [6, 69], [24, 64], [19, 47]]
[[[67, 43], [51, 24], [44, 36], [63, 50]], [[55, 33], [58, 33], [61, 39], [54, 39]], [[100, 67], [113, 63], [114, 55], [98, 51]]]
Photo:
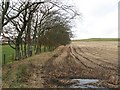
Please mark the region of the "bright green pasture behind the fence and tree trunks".
[[[2, 52], [2, 65], [5, 65], [7, 63], [13, 63], [14, 61], [16, 61], [16, 53], [15, 51], [10, 51], [10, 50], [5, 50], [5, 49], [10, 49], [10, 48], [4, 48], [4, 51]], [[41, 47], [39, 53], [36, 53], [34, 48], [32, 49], [32, 52], [30, 52], [30, 56], [28, 55], [28, 52], [22, 52], [20, 51], [20, 56], [19, 56], [19, 59], [25, 59], [27, 57], [31, 57], [33, 55], [36, 55], [36, 54], [40, 54], [40, 53], [43, 53], [43, 52], [48, 52], [48, 51], [53, 51], [55, 48], [44, 48], [44, 46]], [[8, 53], [9, 52], [9, 53]]]

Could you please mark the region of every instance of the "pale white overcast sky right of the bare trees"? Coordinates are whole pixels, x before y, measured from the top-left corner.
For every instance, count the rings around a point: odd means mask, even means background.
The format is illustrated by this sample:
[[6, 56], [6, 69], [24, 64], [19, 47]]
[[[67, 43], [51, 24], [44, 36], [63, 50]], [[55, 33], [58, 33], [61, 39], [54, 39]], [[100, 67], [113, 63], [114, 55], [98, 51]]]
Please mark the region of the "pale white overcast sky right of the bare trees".
[[117, 38], [120, 0], [71, 0], [82, 20], [75, 20], [74, 39]]

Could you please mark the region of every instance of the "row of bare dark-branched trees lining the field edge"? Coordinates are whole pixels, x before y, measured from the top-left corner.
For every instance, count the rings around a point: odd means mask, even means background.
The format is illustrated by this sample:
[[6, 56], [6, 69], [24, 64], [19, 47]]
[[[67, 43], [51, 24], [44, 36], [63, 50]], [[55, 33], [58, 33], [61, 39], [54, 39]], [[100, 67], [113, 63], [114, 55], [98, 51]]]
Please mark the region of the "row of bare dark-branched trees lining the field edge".
[[16, 60], [70, 43], [71, 21], [79, 16], [73, 6], [58, 0], [2, 0], [0, 34], [15, 49]]

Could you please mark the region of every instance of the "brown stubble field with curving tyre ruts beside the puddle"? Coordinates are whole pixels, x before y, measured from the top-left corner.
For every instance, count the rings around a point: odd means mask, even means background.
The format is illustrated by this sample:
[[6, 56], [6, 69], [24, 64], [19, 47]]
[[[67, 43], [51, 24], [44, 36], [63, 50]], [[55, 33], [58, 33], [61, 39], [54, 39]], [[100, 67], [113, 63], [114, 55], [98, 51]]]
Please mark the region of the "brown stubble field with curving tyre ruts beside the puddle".
[[63, 84], [68, 83], [68, 78], [91, 78], [100, 79], [97, 86], [118, 87], [117, 53], [117, 42], [67, 45], [58, 57], [53, 56], [44, 65], [44, 87], [58, 87], [61, 78], [65, 78]]

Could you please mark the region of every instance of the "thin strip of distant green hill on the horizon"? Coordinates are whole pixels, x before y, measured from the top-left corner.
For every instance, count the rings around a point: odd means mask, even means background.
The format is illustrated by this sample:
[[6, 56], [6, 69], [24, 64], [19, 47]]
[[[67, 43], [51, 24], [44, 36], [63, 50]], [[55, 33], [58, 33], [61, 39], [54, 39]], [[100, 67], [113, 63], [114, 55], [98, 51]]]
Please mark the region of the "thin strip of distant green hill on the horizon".
[[72, 40], [72, 41], [118, 41], [118, 38], [90, 38], [90, 39], [81, 39], [81, 40]]

